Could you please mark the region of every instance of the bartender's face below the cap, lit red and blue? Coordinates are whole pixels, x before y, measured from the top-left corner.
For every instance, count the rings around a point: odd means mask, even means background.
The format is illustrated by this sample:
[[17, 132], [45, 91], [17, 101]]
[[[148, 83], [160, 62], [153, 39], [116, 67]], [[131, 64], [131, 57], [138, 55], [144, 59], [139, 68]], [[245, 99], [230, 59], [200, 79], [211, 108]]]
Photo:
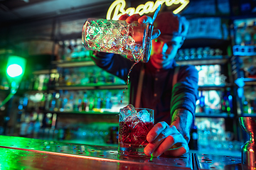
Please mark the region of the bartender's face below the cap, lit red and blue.
[[182, 36], [160, 35], [152, 40], [151, 63], [156, 69], [164, 69], [172, 63], [178, 49], [183, 44]]

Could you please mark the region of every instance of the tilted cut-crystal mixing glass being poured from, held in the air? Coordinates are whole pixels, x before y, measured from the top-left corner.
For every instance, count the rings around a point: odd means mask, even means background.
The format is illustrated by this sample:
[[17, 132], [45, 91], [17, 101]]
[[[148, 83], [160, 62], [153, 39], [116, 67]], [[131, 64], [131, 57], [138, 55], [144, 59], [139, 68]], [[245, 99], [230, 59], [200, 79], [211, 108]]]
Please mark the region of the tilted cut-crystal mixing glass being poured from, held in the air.
[[150, 50], [144, 52], [143, 43], [148, 30], [146, 23], [88, 18], [82, 27], [82, 43], [87, 50], [130, 55], [137, 62], [147, 62]]

